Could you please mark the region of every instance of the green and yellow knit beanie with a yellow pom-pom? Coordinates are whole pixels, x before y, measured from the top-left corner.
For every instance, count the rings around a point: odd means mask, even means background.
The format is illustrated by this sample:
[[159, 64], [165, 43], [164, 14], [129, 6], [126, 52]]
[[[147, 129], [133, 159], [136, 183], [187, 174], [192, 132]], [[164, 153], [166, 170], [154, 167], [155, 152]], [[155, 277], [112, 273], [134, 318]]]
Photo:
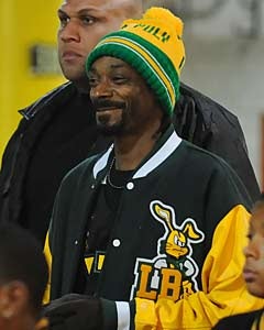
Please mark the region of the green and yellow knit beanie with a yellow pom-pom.
[[102, 37], [88, 56], [86, 70], [102, 56], [124, 61], [152, 88], [165, 113], [172, 116], [185, 63], [183, 30], [183, 21], [169, 10], [153, 7], [142, 19], [125, 20], [119, 31]]

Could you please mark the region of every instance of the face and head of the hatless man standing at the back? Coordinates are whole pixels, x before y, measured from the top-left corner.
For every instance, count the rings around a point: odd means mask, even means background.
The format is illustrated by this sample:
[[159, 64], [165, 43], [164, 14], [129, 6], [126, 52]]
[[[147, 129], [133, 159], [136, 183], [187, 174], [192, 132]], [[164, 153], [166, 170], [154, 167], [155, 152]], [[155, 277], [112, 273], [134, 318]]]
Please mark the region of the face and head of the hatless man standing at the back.
[[[136, 1], [138, 3], [138, 1]], [[86, 81], [87, 55], [106, 34], [135, 15], [133, 0], [65, 0], [58, 9], [58, 58], [65, 77]]]

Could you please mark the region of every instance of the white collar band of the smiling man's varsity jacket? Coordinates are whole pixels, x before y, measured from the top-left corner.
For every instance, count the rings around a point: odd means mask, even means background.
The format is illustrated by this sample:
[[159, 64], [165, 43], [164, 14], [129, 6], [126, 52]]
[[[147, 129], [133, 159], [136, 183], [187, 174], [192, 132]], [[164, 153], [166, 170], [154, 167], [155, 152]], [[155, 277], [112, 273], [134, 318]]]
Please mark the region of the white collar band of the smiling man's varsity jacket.
[[[132, 178], [142, 178], [154, 170], [157, 166], [164, 163], [172, 153], [178, 147], [182, 139], [177, 135], [173, 125], [169, 125], [167, 131], [156, 142], [152, 152], [141, 162], [135, 169]], [[107, 152], [96, 162], [94, 166], [94, 177], [97, 178], [98, 174], [109, 166], [113, 158], [113, 144]]]

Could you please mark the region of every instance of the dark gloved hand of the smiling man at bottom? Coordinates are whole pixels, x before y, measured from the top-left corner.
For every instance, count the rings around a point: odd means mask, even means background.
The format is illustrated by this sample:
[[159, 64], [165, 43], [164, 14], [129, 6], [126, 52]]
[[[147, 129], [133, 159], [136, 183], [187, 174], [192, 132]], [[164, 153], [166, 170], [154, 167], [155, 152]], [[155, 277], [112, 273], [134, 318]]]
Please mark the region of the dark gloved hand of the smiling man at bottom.
[[44, 306], [51, 330], [98, 330], [102, 328], [99, 298], [70, 294]]

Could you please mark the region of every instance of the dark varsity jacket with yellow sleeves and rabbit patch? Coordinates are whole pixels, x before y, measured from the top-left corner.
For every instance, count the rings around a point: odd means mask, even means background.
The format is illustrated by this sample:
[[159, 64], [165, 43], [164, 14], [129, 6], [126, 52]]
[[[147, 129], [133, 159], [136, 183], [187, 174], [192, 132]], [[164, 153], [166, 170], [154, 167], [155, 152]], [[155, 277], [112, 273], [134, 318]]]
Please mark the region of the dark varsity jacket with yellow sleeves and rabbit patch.
[[[82, 162], [58, 190], [45, 245], [52, 299], [75, 292], [112, 157], [110, 147]], [[227, 163], [170, 127], [127, 183], [107, 251], [95, 255], [95, 267], [103, 258], [97, 295], [128, 301], [116, 306], [118, 323], [131, 329], [210, 329], [224, 316], [261, 308], [241, 275], [250, 208]]]

